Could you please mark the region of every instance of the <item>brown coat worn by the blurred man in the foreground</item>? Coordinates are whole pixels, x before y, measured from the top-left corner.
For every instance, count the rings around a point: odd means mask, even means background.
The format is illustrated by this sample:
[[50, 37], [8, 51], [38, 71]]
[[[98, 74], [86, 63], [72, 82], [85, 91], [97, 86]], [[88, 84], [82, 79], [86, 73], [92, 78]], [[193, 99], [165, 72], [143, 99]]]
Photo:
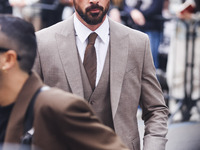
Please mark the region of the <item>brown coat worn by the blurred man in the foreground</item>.
[[[42, 81], [32, 73], [17, 97], [5, 143], [20, 142], [25, 112], [41, 86]], [[62, 90], [41, 92], [34, 117], [33, 144], [42, 150], [128, 150], [110, 128], [99, 122], [83, 99]]]

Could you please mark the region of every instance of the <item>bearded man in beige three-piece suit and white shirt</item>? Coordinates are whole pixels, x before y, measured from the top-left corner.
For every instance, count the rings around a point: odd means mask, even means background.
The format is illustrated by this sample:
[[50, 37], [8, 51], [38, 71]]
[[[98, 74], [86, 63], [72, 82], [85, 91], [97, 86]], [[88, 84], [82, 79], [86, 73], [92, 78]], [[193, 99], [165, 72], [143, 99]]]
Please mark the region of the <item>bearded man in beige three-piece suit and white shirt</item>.
[[[37, 32], [34, 69], [47, 85], [84, 97], [131, 150], [140, 149], [136, 117], [140, 104], [145, 123], [143, 149], [165, 149], [168, 108], [147, 35], [110, 20], [106, 15], [110, 0], [73, 3], [75, 14], [71, 18]], [[98, 35], [94, 44], [95, 88], [85, 67], [87, 38], [94, 32]], [[93, 68], [95, 62], [89, 64]]]

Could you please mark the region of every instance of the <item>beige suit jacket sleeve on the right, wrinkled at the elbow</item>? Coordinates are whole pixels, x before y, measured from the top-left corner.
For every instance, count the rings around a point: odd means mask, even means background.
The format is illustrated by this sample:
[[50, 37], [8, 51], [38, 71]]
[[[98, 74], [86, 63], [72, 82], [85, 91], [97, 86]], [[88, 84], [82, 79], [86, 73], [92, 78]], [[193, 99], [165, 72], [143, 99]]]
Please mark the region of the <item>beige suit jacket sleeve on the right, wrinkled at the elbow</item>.
[[149, 40], [146, 39], [142, 69], [142, 89], [140, 106], [143, 110], [142, 119], [145, 124], [144, 150], [164, 150], [167, 142], [168, 108], [165, 104], [160, 84], [150, 51]]

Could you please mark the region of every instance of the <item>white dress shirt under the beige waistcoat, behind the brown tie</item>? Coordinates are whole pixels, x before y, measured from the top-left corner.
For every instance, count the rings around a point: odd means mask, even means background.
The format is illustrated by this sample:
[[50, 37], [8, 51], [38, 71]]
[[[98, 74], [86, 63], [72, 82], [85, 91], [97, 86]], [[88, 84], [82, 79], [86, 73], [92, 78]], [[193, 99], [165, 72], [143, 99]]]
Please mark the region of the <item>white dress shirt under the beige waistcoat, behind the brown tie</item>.
[[76, 15], [74, 15], [74, 27], [76, 32], [76, 45], [78, 48], [79, 55], [83, 62], [85, 49], [88, 43], [88, 36], [92, 32], [96, 32], [98, 34], [96, 41], [95, 41], [95, 49], [96, 49], [96, 56], [97, 56], [97, 75], [96, 75], [96, 86], [100, 80], [104, 62], [109, 46], [109, 22], [106, 16], [106, 19], [102, 23], [102, 25], [97, 28], [95, 31], [90, 30], [84, 24], [82, 24]]

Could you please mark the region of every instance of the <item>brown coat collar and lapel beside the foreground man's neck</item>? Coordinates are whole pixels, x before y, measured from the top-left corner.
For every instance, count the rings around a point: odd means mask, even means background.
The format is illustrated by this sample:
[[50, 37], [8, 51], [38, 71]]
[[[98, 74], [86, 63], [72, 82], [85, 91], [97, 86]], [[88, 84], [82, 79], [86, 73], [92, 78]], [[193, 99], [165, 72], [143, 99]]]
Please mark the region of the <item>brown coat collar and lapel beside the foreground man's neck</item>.
[[5, 143], [19, 143], [24, 130], [24, 118], [28, 105], [35, 92], [43, 86], [42, 81], [35, 72], [31, 72], [30, 77], [22, 87], [15, 105], [11, 112], [7, 130]]

